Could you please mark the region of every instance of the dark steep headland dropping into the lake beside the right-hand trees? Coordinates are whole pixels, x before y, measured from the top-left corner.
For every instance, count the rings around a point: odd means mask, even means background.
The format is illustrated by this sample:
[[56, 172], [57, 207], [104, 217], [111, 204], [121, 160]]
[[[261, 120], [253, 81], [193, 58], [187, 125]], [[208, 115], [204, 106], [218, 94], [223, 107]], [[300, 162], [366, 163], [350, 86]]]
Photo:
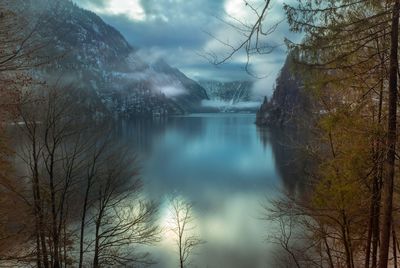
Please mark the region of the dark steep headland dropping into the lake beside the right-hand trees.
[[313, 116], [311, 95], [305, 90], [293, 55], [289, 54], [282, 67], [270, 100], [265, 97], [257, 111], [256, 124], [264, 126], [294, 126], [307, 124]]

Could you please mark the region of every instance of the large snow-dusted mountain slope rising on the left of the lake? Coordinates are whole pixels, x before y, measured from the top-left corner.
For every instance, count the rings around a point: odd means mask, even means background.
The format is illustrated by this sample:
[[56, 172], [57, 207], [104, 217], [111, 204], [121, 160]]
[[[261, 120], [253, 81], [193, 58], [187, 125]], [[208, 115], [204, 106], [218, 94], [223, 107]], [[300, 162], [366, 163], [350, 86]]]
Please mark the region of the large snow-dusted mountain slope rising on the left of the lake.
[[205, 90], [178, 69], [162, 60], [142, 60], [95, 13], [65, 0], [24, 5], [28, 6], [24, 17], [40, 18], [41, 40], [49, 41], [45, 53], [56, 58], [42, 68], [42, 75], [51, 80], [62, 74], [61, 79], [79, 92], [77, 101], [85, 102], [96, 114], [183, 114], [198, 111], [202, 100], [208, 99]]

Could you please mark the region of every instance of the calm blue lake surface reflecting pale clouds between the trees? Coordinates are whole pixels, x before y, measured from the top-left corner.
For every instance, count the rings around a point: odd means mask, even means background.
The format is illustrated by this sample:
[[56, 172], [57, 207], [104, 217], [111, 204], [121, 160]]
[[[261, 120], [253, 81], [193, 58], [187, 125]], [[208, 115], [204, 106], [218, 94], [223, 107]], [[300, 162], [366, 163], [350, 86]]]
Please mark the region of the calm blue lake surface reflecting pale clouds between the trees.
[[[274, 267], [273, 232], [260, 220], [261, 204], [290, 187], [277, 157], [282, 148], [254, 115], [198, 114], [121, 123], [119, 138], [139, 156], [145, 193], [161, 200], [160, 223], [168, 227], [166, 198], [194, 203], [200, 246], [189, 267]], [[283, 154], [284, 155], [284, 154]], [[150, 249], [155, 267], [177, 267], [172, 235]]]

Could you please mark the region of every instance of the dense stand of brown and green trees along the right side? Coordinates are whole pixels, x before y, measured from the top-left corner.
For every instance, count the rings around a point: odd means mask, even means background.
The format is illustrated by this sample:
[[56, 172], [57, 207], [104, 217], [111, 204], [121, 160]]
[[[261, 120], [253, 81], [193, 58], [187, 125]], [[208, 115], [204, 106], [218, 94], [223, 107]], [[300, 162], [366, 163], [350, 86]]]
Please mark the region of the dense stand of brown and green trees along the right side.
[[304, 33], [287, 44], [318, 107], [305, 125], [314, 122], [306, 149], [317, 166], [306, 197], [267, 208], [282, 234], [274, 240], [296, 267], [397, 267], [399, 1], [284, 8]]

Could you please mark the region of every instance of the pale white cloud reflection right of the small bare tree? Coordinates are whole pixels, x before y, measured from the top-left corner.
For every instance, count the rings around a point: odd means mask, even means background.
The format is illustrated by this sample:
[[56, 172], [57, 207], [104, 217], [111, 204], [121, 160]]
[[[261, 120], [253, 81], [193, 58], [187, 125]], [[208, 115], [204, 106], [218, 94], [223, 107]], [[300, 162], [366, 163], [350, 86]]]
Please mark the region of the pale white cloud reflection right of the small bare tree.
[[268, 223], [259, 220], [257, 212], [262, 197], [254, 194], [235, 194], [201, 220], [202, 235], [208, 240], [199, 263], [210, 267], [265, 267], [263, 243]]

